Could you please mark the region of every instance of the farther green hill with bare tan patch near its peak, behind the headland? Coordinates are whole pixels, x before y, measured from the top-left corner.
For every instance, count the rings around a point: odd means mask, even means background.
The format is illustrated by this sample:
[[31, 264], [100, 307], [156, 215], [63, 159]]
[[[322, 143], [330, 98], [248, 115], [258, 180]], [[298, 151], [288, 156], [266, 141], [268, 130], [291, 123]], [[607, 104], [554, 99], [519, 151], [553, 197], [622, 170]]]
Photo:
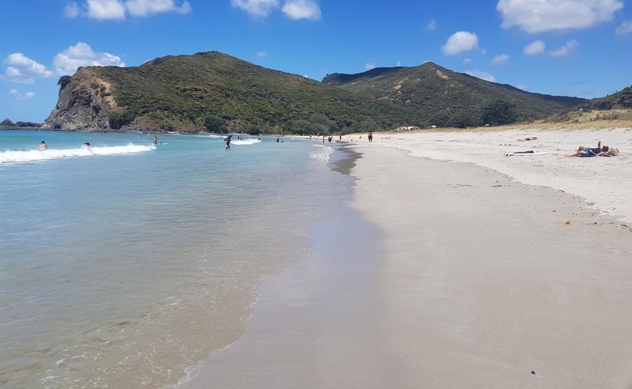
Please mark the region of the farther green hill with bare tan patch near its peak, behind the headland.
[[525, 92], [511, 85], [487, 82], [435, 63], [415, 67], [375, 68], [364, 73], [331, 74], [323, 83], [377, 101], [413, 108], [428, 125], [482, 125], [482, 110], [494, 101], [510, 102], [517, 120], [545, 118], [585, 102], [577, 97]]

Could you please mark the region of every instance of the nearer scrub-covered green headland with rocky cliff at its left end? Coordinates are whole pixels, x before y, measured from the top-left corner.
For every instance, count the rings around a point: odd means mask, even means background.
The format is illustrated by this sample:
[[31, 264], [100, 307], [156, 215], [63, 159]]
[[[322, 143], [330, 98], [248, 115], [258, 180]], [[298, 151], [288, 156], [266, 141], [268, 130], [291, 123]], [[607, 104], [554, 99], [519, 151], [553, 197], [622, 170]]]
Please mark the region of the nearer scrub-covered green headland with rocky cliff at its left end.
[[328, 133], [423, 120], [391, 101], [220, 52], [166, 56], [133, 68], [80, 68], [60, 84], [58, 106], [46, 121], [53, 128]]

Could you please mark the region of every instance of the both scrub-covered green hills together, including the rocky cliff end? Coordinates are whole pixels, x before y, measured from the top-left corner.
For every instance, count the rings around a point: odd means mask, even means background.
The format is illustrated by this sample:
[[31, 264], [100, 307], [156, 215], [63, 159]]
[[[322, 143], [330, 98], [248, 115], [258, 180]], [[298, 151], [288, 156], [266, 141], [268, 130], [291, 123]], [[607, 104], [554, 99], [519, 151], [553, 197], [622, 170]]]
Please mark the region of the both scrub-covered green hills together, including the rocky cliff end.
[[46, 128], [323, 134], [468, 127], [490, 116], [504, 123], [542, 118], [585, 101], [523, 92], [433, 63], [328, 75], [321, 83], [215, 51], [131, 68], [79, 68], [59, 85]]

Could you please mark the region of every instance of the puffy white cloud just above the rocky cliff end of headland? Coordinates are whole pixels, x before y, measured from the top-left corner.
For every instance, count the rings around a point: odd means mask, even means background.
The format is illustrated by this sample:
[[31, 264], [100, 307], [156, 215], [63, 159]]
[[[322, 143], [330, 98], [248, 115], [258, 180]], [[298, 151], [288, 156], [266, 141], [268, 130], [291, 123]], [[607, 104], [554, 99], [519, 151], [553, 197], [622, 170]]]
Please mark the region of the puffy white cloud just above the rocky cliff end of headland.
[[52, 65], [60, 75], [73, 75], [79, 66], [125, 67], [121, 58], [107, 52], [94, 52], [92, 47], [82, 42], [59, 52], [52, 60]]

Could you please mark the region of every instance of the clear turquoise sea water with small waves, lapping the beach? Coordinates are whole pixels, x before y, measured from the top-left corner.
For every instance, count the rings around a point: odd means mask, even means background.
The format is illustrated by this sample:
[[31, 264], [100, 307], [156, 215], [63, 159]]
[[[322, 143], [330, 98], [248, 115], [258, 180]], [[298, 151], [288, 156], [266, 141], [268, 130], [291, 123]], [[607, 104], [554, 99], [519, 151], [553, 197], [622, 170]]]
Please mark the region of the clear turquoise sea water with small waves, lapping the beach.
[[327, 145], [153, 136], [0, 131], [0, 387], [176, 383], [351, 197]]

